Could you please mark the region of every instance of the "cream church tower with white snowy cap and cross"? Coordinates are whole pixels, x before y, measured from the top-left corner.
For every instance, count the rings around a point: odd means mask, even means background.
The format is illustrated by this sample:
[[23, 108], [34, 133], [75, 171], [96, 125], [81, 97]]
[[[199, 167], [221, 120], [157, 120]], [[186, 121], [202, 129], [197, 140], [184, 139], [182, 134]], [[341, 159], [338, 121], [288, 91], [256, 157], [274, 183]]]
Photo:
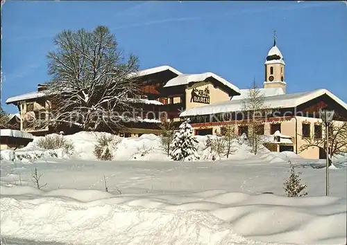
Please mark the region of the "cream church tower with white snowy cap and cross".
[[265, 61], [264, 88], [281, 88], [285, 92], [286, 85], [285, 61], [276, 46], [276, 30], [273, 30], [273, 47], [267, 54]]

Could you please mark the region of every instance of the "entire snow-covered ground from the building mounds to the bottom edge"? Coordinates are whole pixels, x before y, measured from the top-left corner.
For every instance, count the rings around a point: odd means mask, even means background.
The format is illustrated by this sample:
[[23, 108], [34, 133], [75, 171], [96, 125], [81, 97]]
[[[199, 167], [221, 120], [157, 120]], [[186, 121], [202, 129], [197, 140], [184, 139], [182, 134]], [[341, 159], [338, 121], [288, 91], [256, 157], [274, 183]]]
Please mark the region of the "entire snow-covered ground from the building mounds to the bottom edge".
[[[168, 161], [153, 135], [125, 138], [117, 161], [97, 161], [96, 134], [70, 138], [76, 153], [37, 149], [34, 142], [1, 151], [1, 236], [8, 244], [345, 244], [346, 161], [239, 146], [228, 160]], [[199, 137], [201, 145], [205, 137]], [[151, 151], [139, 154], [143, 146]], [[201, 148], [202, 149], [202, 148]], [[33, 154], [35, 152], [35, 154]], [[285, 197], [288, 159], [307, 183], [305, 197]], [[136, 160], [136, 161], [133, 161]], [[31, 181], [37, 167], [41, 190]], [[105, 192], [105, 180], [108, 192]], [[266, 193], [264, 193], [266, 192]], [[271, 194], [271, 193], [273, 194]], [[22, 241], [22, 243], [21, 243]]]

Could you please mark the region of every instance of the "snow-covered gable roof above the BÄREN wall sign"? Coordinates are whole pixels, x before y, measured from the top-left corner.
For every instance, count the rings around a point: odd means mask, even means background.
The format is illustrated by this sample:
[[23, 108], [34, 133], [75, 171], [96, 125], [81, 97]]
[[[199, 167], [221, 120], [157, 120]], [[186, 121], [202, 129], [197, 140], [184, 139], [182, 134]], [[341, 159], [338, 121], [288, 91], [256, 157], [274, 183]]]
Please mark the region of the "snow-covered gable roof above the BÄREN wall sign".
[[206, 72], [206, 73], [200, 73], [200, 74], [182, 74], [178, 75], [176, 78], [172, 78], [167, 82], [167, 84], [164, 85], [165, 87], [174, 87], [179, 85], [185, 85], [189, 84], [191, 82], [202, 82], [205, 81], [208, 78], [214, 78], [215, 80], [221, 82], [222, 84], [226, 85], [226, 87], [232, 89], [233, 91], [236, 91], [239, 93], [239, 88], [235, 85], [231, 84], [224, 78], [221, 78], [219, 75], [216, 75], [212, 72]]

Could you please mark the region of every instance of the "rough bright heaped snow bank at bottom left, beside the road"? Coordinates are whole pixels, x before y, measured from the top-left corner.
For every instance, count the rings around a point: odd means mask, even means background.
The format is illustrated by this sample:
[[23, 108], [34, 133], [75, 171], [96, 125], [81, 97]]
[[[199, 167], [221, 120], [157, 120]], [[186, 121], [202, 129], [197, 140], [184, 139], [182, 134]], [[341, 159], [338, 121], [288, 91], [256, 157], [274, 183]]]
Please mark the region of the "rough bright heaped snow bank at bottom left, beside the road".
[[37, 203], [2, 198], [1, 234], [69, 244], [260, 244], [236, 235], [206, 212], [49, 198]]

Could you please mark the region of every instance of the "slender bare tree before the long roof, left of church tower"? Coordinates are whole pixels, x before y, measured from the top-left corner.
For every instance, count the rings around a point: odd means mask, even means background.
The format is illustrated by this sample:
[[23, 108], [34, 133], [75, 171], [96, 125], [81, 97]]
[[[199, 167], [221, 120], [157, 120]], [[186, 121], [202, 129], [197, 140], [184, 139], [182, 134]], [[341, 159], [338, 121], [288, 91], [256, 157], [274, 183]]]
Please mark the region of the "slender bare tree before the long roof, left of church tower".
[[248, 89], [248, 97], [242, 102], [242, 111], [247, 113], [246, 124], [248, 126], [247, 138], [251, 144], [253, 153], [256, 155], [258, 149], [264, 143], [264, 125], [262, 118], [266, 107], [264, 106], [264, 94], [253, 81], [253, 86]]

